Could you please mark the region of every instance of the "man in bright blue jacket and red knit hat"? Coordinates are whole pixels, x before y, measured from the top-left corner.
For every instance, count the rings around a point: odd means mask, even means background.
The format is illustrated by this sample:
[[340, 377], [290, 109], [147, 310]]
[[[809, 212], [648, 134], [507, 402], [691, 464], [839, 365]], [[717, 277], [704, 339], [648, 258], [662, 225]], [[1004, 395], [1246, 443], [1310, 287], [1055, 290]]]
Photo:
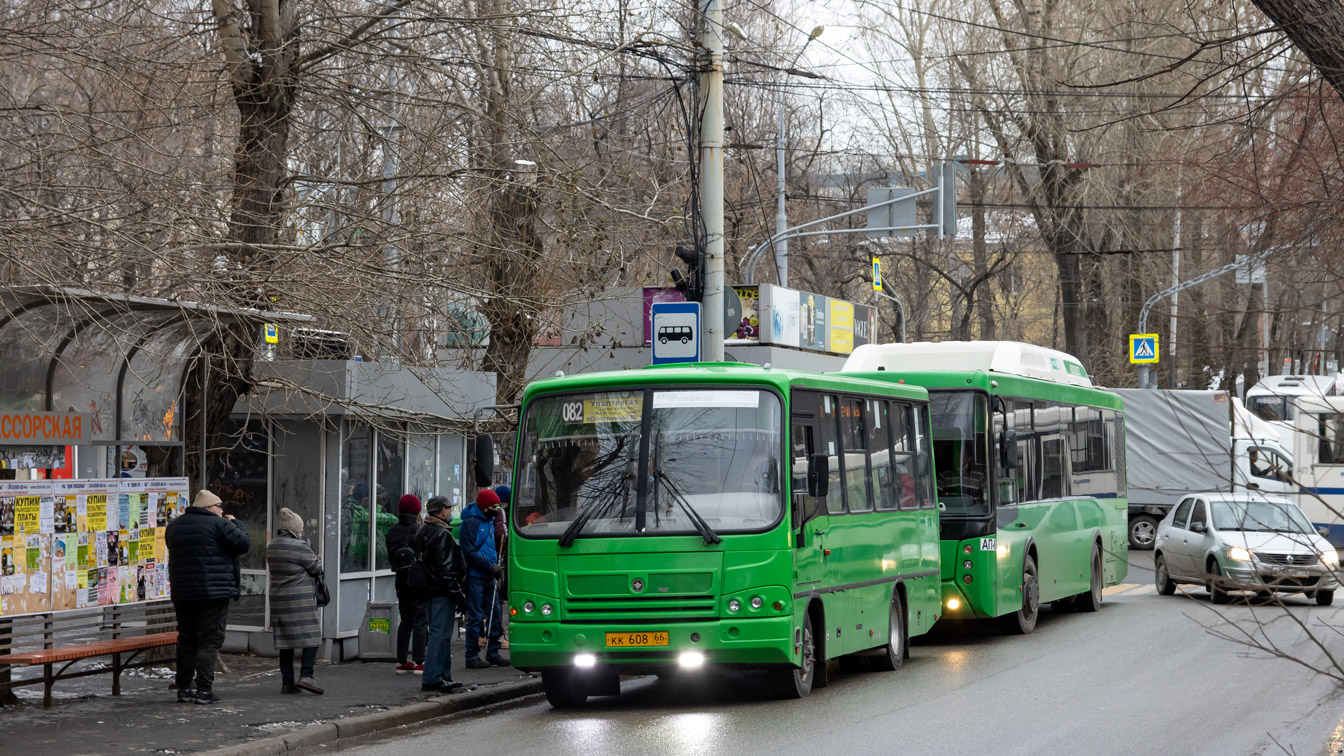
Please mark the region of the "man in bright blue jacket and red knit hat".
[[[462, 513], [462, 556], [466, 558], [466, 666], [478, 670], [489, 666], [507, 667], [508, 659], [500, 654], [504, 623], [499, 587], [495, 581], [504, 574], [495, 549], [495, 513], [499, 494], [481, 488], [476, 502]], [[489, 627], [484, 627], [488, 624]], [[481, 638], [488, 632], [485, 658], [481, 659]]]

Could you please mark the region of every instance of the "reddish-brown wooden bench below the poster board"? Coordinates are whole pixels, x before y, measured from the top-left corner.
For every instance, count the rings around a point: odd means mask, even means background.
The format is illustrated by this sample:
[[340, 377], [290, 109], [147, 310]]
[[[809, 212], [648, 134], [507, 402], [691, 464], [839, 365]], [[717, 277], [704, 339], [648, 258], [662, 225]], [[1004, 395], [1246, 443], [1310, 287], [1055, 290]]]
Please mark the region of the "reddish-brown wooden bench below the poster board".
[[[168, 630], [175, 624], [167, 601], [5, 619], [0, 626], [0, 690], [42, 682], [42, 705], [50, 708], [56, 681], [110, 671], [112, 694], [121, 695], [122, 670], [165, 663], [142, 656], [152, 648], [176, 644], [177, 632]], [[112, 638], [87, 640], [90, 635]], [[112, 669], [70, 669], [98, 656], [112, 656]], [[36, 666], [42, 667], [40, 678], [11, 679], [12, 669]]]

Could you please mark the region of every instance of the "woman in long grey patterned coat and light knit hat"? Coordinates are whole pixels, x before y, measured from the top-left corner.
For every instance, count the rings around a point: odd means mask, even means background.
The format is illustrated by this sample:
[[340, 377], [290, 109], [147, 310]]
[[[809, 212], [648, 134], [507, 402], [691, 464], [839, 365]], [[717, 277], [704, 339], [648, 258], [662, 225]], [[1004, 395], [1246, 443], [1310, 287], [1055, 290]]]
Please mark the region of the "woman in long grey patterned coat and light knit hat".
[[[270, 623], [280, 651], [281, 693], [321, 694], [313, 682], [313, 663], [323, 642], [317, 621], [316, 585], [323, 580], [317, 554], [302, 539], [304, 521], [289, 508], [280, 510], [280, 530], [266, 543], [266, 569], [270, 572]], [[294, 650], [301, 650], [298, 681], [294, 681]]]

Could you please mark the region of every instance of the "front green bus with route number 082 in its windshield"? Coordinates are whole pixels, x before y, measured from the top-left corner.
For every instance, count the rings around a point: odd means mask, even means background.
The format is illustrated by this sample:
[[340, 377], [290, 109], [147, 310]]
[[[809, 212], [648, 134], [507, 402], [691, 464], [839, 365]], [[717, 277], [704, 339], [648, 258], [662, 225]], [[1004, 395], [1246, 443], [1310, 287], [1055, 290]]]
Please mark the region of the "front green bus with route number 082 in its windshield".
[[923, 389], [698, 363], [523, 395], [509, 651], [552, 706], [622, 674], [896, 670], [941, 613]]

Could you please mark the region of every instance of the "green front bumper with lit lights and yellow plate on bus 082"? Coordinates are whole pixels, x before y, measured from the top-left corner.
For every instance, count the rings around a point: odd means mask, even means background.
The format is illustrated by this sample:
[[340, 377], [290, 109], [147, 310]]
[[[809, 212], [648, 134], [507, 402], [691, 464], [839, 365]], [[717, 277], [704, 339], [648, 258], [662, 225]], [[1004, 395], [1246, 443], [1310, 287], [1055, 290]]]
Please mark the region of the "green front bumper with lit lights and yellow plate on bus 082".
[[[794, 617], [743, 617], [698, 623], [567, 624], [560, 621], [511, 621], [509, 659], [513, 667], [531, 670], [574, 665], [579, 654], [593, 654], [597, 665], [617, 674], [640, 674], [679, 665], [685, 651], [704, 654], [707, 665], [793, 665]], [[607, 634], [667, 632], [668, 644], [610, 648]]]

